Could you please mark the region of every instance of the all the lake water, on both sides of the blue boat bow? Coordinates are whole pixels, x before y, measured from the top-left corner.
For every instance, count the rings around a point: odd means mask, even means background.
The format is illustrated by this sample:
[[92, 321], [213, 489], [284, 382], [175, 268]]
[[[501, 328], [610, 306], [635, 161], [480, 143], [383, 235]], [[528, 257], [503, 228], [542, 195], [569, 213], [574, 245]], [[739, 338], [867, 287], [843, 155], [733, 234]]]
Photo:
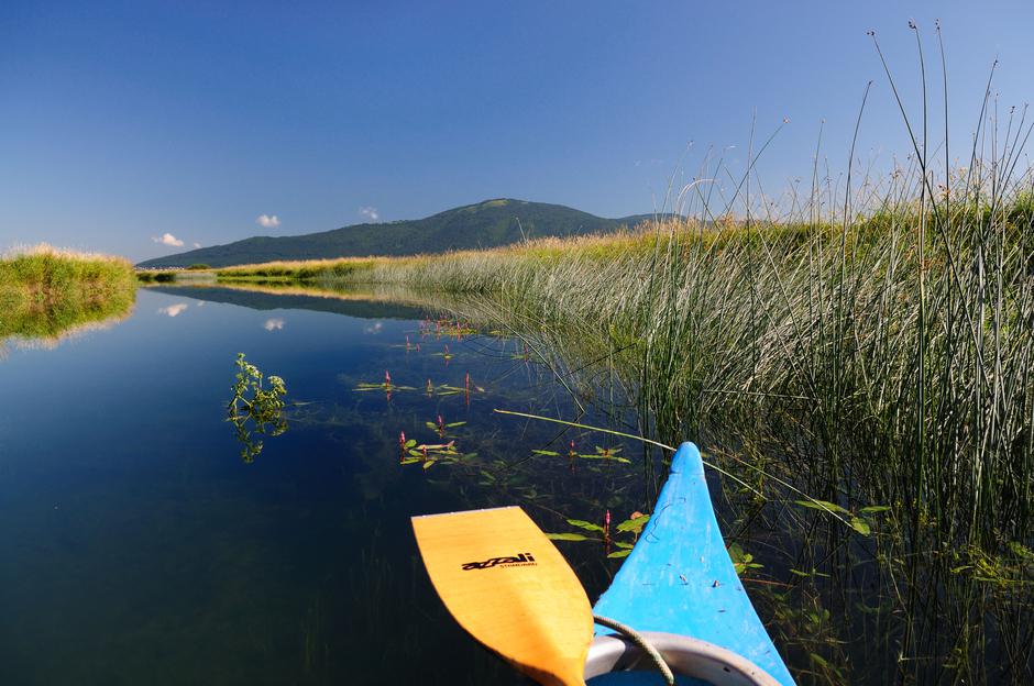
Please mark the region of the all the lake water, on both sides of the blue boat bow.
[[[250, 446], [227, 421], [238, 353], [288, 391], [287, 431]], [[566, 520], [649, 512], [659, 454], [494, 411], [637, 432], [609, 369], [547, 357], [561, 367], [420, 306], [215, 286], [141, 289], [107, 328], [0, 343], [0, 684], [529, 683], [446, 613], [410, 517], [520, 505], [586, 533]], [[386, 372], [408, 388], [363, 390]], [[442, 438], [439, 417], [462, 424]], [[408, 461], [402, 432], [463, 456]], [[627, 462], [572, 462], [571, 441]], [[710, 474], [719, 522], [802, 683], [1027, 683], [1026, 571], [959, 572], [886, 512], [858, 535], [800, 494], [758, 501], [735, 447], [704, 446], [738, 469]], [[595, 600], [622, 561], [558, 545]]]

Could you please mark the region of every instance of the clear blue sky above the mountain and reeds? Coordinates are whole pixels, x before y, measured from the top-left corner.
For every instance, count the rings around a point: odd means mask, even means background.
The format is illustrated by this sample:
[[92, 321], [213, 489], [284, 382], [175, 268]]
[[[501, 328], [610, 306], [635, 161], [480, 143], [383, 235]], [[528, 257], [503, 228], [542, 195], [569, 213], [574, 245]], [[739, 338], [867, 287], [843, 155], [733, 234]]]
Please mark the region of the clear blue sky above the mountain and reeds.
[[789, 118], [774, 192], [822, 120], [844, 167], [870, 79], [861, 156], [889, 165], [908, 139], [866, 31], [915, 108], [912, 18], [935, 59], [942, 20], [957, 150], [996, 58], [1001, 108], [1034, 93], [1030, 1], [295, 4], [0, 3], [0, 250], [143, 259], [493, 197], [646, 212], [680, 159], [741, 164], [752, 120]]

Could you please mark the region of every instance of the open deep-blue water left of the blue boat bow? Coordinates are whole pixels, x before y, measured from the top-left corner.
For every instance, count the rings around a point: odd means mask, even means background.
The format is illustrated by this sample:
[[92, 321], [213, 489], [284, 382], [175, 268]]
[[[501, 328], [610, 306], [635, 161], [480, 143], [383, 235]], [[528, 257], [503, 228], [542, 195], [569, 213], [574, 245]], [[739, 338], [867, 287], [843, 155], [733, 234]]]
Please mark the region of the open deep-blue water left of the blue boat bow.
[[[399, 306], [163, 290], [0, 359], [0, 684], [524, 683], [447, 618], [409, 518], [520, 502], [569, 531], [648, 509], [641, 467], [532, 457], [602, 440], [493, 413], [570, 410], [513, 341], [421, 336]], [[239, 352], [298, 403], [251, 464], [226, 421]], [[419, 390], [354, 390], [386, 369]], [[424, 392], [468, 373], [469, 401]], [[477, 455], [399, 465], [399, 432], [437, 442], [439, 413]], [[618, 563], [563, 550], [595, 598]]]

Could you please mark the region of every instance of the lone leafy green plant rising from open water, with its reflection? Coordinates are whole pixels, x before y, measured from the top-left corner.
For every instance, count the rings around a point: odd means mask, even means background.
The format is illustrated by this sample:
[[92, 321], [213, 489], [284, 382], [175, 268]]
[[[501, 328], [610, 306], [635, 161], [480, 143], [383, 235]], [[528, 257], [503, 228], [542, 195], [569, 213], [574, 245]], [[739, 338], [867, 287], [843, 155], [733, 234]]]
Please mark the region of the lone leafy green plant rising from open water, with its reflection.
[[[262, 441], [253, 438], [254, 433], [276, 436], [287, 431], [287, 417], [284, 414], [287, 387], [278, 376], [263, 376], [258, 367], [244, 359], [244, 353], [237, 354], [237, 380], [230, 388], [233, 397], [227, 405], [227, 421], [233, 424], [243, 446], [241, 458], [250, 463], [263, 447]], [[267, 388], [263, 387], [263, 381]]]

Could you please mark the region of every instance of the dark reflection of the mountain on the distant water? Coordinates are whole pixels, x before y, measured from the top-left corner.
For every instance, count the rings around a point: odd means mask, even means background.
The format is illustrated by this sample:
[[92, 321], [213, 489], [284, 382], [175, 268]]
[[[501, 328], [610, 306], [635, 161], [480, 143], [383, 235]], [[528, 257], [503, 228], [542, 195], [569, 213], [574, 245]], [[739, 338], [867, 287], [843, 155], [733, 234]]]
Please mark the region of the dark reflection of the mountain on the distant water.
[[147, 290], [208, 302], [238, 305], [253, 310], [312, 310], [360, 319], [424, 319], [428, 311], [374, 295], [337, 292], [302, 287], [272, 286], [147, 286]]

